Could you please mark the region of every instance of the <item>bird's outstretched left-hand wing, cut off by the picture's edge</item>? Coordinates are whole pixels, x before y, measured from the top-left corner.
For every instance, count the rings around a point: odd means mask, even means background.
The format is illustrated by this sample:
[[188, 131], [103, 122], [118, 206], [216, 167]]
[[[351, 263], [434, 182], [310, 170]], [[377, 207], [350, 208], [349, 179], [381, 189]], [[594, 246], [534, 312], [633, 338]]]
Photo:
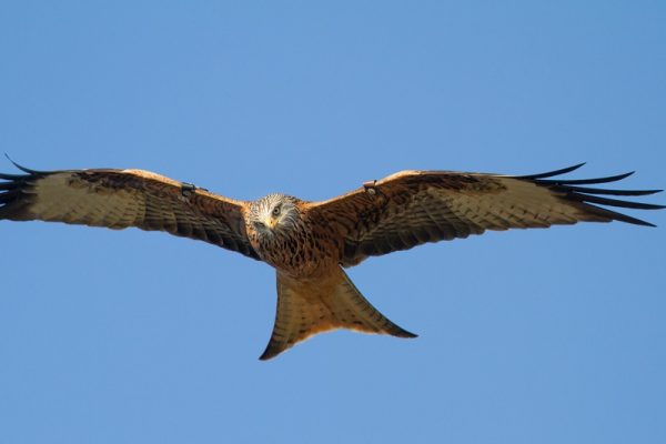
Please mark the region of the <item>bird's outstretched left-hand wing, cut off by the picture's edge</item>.
[[245, 202], [142, 170], [0, 174], [0, 220], [165, 231], [259, 260], [245, 233]]

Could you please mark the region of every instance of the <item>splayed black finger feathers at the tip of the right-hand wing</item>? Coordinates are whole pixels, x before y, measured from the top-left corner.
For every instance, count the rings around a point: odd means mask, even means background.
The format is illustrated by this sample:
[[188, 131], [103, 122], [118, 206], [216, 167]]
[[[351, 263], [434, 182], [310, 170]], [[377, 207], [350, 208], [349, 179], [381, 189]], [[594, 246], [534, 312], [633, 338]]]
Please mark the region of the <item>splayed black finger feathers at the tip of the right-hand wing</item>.
[[646, 222], [640, 219], [632, 218], [624, 213], [618, 213], [613, 210], [608, 210], [598, 205], [605, 206], [615, 206], [615, 208], [626, 208], [633, 210], [663, 210], [666, 209], [666, 205], [658, 205], [653, 203], [643, 203], [643, 202], [633, 202], [626, 200], [618, 199], [608, 199], [601, 198], [599, 195], [622, 195], [622, 196], [637, 196], [637, 195], [650, 195], [660, 193], [664, 190], [610, 190], [610, 189], [599, 189], [599, 188], [588, 188], [588, 186], [578, 186], [578, 185], [598, 185], [602, 183], [612, 183], [618, 182], [623, 179], [633, 175], [635, 171], [629, 171], [623, 174], [608, 175], [604, 178], [595, 178], [595, 179], [551, 179], [557, 175], [566, 174], [572, 171], [575, 171], [583, 167], [585, 163], [578, 163], [573, 167], [564, 168], [561, 170], [549, 171], [545, 173], [538, 174], [529, 174], [529, 175], [508, 175], [506, 178], [517, 179], [522, 181], [532, 182], [538, 186], [544, 186], [549, 189], [555, 193], [563, 193], [564, 195], [561, 199], [569, 202], [578, 202], [583, 204], [582, 209], [589, 211], [596, 215], [602, 218], [607, 218], [608, 221], [619, 221], [626, 222], [634, 225], [643, 225], [643, 226], [656, 226], [653, 223]]

